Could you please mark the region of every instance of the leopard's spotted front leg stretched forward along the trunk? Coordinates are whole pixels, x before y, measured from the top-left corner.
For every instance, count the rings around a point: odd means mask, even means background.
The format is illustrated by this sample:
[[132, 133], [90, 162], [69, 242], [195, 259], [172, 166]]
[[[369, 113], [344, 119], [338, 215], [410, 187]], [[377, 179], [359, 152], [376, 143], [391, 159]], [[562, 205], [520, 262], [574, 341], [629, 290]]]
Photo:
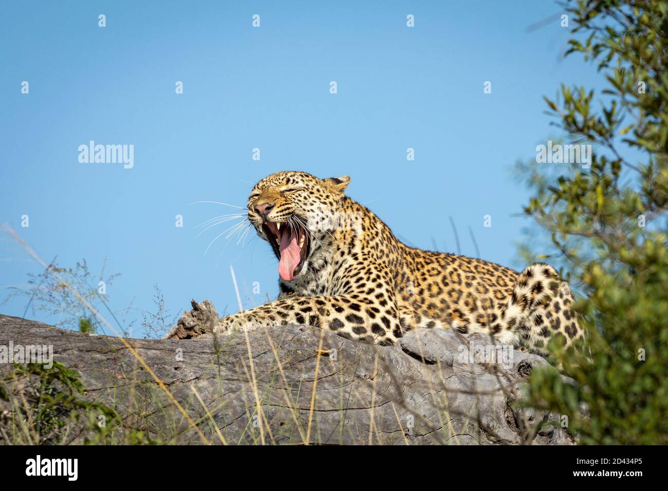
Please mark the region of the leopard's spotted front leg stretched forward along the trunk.
[[220, 319], [214, 333], [287, 324], [313, 325], [348, 339], [380, 345], [391, 345], [401, 337], [397, 309], [387, 293], [280, 299]]

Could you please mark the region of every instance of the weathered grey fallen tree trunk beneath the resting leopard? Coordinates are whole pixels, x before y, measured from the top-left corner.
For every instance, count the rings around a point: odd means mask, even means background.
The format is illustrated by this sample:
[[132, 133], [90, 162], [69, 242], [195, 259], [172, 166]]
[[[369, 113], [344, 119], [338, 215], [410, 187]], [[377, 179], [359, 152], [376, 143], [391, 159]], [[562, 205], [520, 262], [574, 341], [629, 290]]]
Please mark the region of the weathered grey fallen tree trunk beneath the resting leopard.
[[[81, 376], [82, 397], [118, 413], [119, 442], [142, 432], [142, 438], [174, 444], [572, 443], [556, 416], [513, 403], [522, 379], [546, 361], [510, 350], [506, 367], [479, 363], [469, 353], [472, 343], [489, 345], [482, 335], [420, 329], [393, 347], [377, 347], [313, 327], [283, 326], [196, 339], [128, 339], [164, 389], [116, 337], [0, 315], [0, 345], [10, 342], [52, 346], [55, 361]], [[11, 367], [0, 365], [0, 380]], [[16, 388], [5, 379], [5, 389]], [[18, 396], [5, 397], [0, 442], [11, 443], [7, 422], [15, 422], [20, 406], [12, 397]], [[536, 432], [539, 420], [549, 424]], [[90, 438], [85, 423], [59, 442]]]

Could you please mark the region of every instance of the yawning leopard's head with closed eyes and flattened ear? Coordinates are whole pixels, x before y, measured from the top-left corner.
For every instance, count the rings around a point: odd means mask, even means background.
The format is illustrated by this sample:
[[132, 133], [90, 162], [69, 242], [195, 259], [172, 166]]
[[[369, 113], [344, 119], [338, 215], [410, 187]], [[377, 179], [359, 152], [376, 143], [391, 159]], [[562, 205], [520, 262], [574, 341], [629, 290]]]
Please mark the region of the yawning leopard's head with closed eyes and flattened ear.
[[287, 170], [265, 177], [248, 197], [248, 220], [279, 259], [285, 281], [308, 271], [309, 259], [322, 247], [329, 220], [344, 198], [348, 176], [319, 179]]

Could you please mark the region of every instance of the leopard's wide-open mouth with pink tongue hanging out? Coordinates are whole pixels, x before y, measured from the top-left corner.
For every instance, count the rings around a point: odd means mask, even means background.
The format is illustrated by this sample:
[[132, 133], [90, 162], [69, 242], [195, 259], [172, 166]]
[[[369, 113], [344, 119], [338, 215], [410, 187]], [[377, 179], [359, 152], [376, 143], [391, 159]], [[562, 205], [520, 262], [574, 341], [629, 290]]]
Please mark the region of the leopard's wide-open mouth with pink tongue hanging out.
[[291, 281], [299, 275], [311, 251], [309, 232], [301, 225], [289, 222], [263, 222], [262, 228], [274, 254], [279, 259], [279, 275]]

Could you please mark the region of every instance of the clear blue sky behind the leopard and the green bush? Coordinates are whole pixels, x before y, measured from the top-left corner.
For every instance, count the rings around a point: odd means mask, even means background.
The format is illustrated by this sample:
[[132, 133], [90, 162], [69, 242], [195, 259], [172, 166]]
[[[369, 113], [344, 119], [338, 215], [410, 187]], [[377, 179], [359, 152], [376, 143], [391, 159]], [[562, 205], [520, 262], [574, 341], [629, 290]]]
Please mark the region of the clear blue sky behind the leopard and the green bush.
[[[402, 238], [517, 266], [527, 192], [510, 166], [554, 136], [542, 96], [560, 82], [597, 87], [562, 58], [569, 30], [552, 1], [11, 2], [0, 7], [0, 222], [50, 261], [86, 258], [122, 277], [114, 309], [176, 313], [191, 298], [236, 310], [229, 265], [277, 295], [268, 244], [194, 227], [245, 206], [278, 170], [349, 174]], [[98, 15], [106, 27], [98, 27]], [[261, 16], [254, 28], [252, 16]], [[415, 27], [406, 27], [406, 15]], [[546, 17], [532, 32], [526, 28]], [[21, 94], [21, 82], [29, 94]], [[175, 94], [176, 81], [184, 94]], [[338, 94], [329, 93], [337, 81]], [[492, 94], [483, 93], [485, 81]], [[81, 144], [134, 145], [134, 168], [79, 163]], [[253, 148], [261, 160], [252, 160]], [[415, 160], [406, 160], [406, 149]], [[21, 228], [21, 215], [29, 228]], [[177, 228], [174, 216], [184, 216]], [[492, 215], [484, 228], [483, 216]], [[248, 241], [246, 241], [248, 243]], [[41, 267], [0, 238], [0, 296]], [[249, 291], [249, 290], [248, 290]], [[25, 299], [0, 307], [21, 315]], [[38, 319], [57, 323], [57, 319]], [[136, 333], [142, 335], [142, 333]]]

